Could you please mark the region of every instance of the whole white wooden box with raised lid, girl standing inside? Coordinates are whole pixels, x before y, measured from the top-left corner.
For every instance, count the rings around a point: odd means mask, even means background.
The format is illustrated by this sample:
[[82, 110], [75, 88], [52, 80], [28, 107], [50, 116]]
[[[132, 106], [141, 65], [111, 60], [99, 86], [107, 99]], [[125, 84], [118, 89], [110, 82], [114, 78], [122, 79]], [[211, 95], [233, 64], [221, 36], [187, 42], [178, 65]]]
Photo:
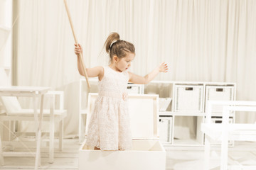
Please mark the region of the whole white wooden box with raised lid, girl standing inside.
[[[87, 121], [96, 98], [97, 94], [88, 96]], [[166, 151], [158, 135], [158, 95], [131, 95], [128, 100], [133, 149], [100, 151], [83, 142], [79, 149], [79, 170], [165, 170]]]

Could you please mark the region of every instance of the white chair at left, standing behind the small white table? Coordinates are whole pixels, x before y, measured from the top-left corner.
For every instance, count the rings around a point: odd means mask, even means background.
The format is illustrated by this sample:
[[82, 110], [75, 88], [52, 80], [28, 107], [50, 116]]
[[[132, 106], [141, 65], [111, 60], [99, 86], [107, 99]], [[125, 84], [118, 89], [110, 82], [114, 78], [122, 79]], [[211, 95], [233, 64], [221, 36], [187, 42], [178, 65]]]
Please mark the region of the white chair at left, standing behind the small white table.
[[[8, 86], [8, 79], [4, 69], [0, 68], [0, 86]], [[18, 86], [16, 86], [18, 89]], [[21, 92], [18, 96], [23, 96]], [[24, 94], [26, 96], [26, 94]], [[55, 96], [59, 96], [59, 108], [55, 109]], [[67, 111], [63, 109], [63, 91], [48, 91], [45, 98], [50, 98], [50, 109], [43, 109], [42, 122], [49, 122], [49, 162], [53, 163], [54, 159], [54, 132], [55, 123], [59, 124], [59, 149], [63, 148], [63, 120], [67, 115]], [[21, 104], [16, 96], [1, 96], [0, 102], [4, 106], [5, 113], [0, 114], [0, 125], [4, 125], [4, 121], [33, 121], [35, 122], [34, 109], [21, 108]], [[45, 100], [44, 100], [45, 101]], [[37, 111], [39, 113], [40, 111]], [[36, 130], [35, 130], [36, 131]], [[2, 150], [2, 143], [0, 135], [0, 164], [4, 165], [4, 157], [14, 156]], [[20, 156], [28, 154], [18, 154]], [[17, 155], [17, 156], [18, 156]], [[32, 156], [32, 155], [31, 155]], [[39, 162], [40, 164], [40, 162]]]

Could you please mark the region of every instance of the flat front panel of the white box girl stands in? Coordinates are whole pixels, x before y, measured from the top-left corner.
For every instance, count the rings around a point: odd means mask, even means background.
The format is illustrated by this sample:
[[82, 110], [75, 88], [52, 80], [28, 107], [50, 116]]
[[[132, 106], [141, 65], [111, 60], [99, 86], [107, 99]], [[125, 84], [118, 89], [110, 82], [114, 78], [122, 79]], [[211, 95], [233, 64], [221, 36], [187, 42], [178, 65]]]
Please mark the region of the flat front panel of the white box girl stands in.
[[165, 170], [165, 152], [101, 152], [79, 153], [79, 170]]

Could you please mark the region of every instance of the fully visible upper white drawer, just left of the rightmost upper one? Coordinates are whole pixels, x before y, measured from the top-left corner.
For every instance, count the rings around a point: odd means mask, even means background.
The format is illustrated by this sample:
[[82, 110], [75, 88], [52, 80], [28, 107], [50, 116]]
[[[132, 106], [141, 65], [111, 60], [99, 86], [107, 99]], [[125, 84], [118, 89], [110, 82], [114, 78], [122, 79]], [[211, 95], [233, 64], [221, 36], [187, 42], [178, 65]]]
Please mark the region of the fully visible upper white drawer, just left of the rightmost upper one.
[[175, 112], [203, 112], [203, 86], [176, 85]]

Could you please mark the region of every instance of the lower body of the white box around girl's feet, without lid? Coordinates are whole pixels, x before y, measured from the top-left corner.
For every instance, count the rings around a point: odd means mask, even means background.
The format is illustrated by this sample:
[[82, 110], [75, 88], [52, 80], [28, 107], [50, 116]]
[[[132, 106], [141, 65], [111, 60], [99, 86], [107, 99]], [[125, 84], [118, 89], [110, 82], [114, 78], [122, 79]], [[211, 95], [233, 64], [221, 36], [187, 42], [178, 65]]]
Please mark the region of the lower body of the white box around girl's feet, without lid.
[[[165, 170], [166, 152], [158, 140], [133, 140], [131, 151], [79, 150], [79, 170]], [[146, 146], [146, 147], [145, 147]]]

